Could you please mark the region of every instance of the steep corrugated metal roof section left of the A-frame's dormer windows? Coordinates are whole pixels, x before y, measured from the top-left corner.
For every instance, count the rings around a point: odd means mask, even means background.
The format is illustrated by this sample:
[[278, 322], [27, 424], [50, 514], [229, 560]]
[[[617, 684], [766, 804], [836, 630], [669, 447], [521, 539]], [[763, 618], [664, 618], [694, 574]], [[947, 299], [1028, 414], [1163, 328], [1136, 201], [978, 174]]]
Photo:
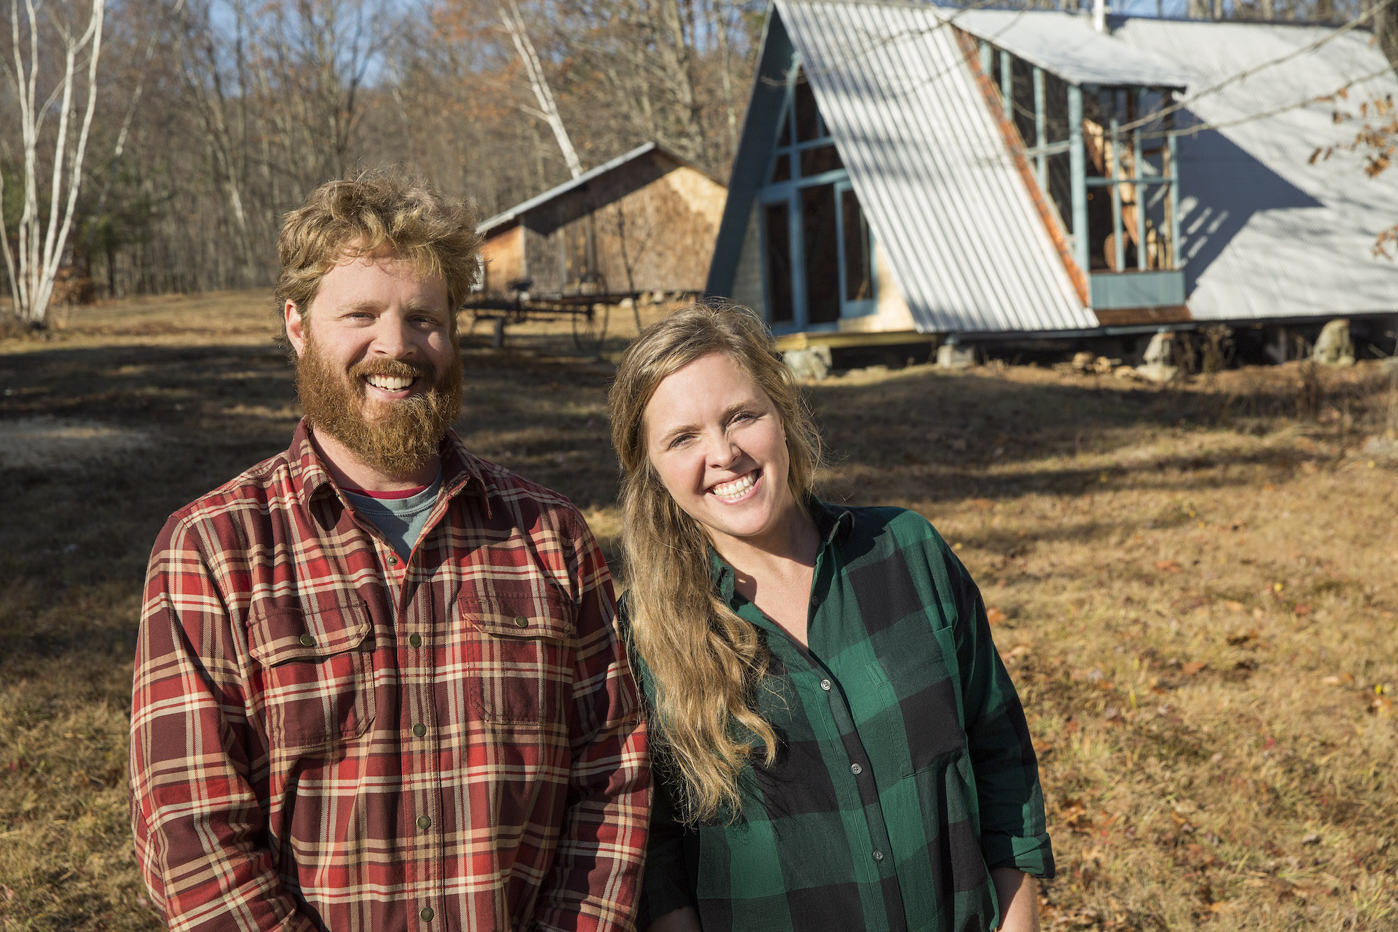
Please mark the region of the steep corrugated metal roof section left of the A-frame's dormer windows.
[[1097, 326], [934, 7], [776, 0], [924, 332]]

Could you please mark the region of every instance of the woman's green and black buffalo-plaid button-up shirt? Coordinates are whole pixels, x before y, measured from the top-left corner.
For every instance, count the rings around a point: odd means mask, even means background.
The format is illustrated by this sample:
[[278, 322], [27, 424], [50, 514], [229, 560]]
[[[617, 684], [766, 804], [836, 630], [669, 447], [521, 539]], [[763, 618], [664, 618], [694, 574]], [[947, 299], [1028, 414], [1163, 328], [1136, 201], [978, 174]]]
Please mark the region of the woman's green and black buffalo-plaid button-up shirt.
[[980, 593], [914, 512], [812, 511], [823, 544], [809, 649], [714, 557], [723, 598], [766, 633], [774, 690], [758, 702], [781, 753], [745, 771], [734, 824], [686, 828], [657, 789], [639, 928], [689, 904], [705, 932], [990, 929], [991, 868], [1054, 868], [1029, 729]]

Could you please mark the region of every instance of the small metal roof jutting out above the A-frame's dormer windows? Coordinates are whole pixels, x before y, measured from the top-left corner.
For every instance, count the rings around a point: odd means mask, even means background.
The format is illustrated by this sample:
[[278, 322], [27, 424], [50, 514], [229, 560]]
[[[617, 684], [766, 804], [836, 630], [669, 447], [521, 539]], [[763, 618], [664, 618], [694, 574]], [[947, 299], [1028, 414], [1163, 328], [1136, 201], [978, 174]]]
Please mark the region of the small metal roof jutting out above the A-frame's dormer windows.
[[1089, 14], [948, 8], [942, 15], [1071, 84], [1183, 88], [1190, 81], [1188, 73], [1149, 49], [1096, 32]]

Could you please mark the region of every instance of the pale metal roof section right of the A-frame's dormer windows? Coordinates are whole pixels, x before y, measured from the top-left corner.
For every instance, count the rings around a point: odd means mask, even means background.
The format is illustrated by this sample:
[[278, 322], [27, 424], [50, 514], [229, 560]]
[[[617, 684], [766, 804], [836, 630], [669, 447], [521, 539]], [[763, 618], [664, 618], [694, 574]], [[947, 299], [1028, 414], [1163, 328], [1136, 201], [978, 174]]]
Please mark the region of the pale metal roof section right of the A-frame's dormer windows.
[[[1145, 18], [1113, 25], [1120, 41], [1187, 71], [1195, 94], [1335, 32]], [[1398, 169], [1370, 179], [1363, 158], [1343, 151], [1310, 162], [1317, 148], [1355, 137], [1359, 125], [1336, 125], [1335, 109], [1357, 112], [1373, 95], [1398, 95], [1370, 42], [1367, 32], [1339, 35], [1190, 104], [1184, 116], [1218, 126], [1179, 140], [1180, 245], [1195, 319], [1398, 309], [1398, 263], [1373, 255], [1374, 236], [1398, 223]], [[1345, 101], [1295, 106], [1376, 73]], [[1261, 113], [1274, 115], [1251, 119]]]

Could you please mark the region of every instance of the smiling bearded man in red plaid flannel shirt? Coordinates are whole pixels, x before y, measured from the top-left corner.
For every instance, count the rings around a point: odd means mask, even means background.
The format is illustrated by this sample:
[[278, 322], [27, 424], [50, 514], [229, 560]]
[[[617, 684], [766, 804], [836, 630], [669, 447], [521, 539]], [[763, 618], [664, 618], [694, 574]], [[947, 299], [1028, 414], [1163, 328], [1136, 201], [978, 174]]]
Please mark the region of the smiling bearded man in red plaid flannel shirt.
[[464, 203], [387, 174], [285, 217], [305, 418], [171, 516], [131, 702], [131, 821], [172, 929], [632, 928], [644, 733], [562, 495], [471, 455]]

